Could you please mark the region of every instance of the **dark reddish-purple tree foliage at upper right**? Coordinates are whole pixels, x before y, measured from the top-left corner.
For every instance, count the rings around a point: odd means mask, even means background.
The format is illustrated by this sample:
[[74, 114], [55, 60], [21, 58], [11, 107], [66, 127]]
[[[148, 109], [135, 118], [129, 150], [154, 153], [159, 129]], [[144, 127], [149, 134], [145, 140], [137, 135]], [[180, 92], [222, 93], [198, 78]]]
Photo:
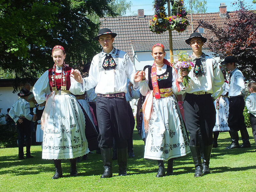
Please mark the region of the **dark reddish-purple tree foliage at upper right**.
[[208, 28], [215, 36], [207, 40], [210, 51], [215, 56], [224, 59], [233, 55], [239, 60], [238, 67], [246, 79], [255, 80], [256, 76], [256, 12], [238, 1], [239, 10], [230, 14], [227, 22], [221, 28], [212, 22], [200, 21], [204, 28]]

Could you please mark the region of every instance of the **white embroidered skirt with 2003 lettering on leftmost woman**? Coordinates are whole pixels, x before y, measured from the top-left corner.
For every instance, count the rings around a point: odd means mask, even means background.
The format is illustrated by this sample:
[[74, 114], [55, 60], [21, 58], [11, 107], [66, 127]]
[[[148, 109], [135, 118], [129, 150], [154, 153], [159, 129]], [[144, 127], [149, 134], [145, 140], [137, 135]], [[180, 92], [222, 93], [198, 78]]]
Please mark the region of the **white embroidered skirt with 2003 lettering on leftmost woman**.
[[47, 109], [44, 127], [43, 159], [71, 159], [89, 152], [85, 137], [85, 118], [75, 96], [55, 95]]

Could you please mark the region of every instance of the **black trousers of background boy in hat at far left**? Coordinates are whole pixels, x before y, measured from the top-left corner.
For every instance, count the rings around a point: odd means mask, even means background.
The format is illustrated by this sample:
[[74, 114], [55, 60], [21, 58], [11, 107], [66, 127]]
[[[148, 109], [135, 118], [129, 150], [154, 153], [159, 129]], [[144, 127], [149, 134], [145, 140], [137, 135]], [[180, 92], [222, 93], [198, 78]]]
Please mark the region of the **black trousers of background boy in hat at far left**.
[[26, 156], [30, 155], [30, 146], [31, 146], [31, 129], [28, 119], [23, 118], [23, 122], [20, 124], [17, 122], [17, 132], [18, 132], [18, 144], [19, 144], [19, 157], [24, 156], [23, 147], [24, 147], [24, 135], [26, 135]]

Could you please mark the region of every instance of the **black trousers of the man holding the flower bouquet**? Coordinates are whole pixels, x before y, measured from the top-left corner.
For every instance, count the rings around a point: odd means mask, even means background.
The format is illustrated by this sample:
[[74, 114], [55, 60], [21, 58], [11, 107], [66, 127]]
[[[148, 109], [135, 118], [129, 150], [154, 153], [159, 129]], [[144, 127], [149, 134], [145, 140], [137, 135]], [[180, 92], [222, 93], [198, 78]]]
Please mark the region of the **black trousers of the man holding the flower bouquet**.
[[189, 132], [189, 145], [200, 146], [199, 135], [202, 135], [204, 145], [212, 145], [216, 111], [211, 94], [186, 93], [183, 107], [185, 124]]

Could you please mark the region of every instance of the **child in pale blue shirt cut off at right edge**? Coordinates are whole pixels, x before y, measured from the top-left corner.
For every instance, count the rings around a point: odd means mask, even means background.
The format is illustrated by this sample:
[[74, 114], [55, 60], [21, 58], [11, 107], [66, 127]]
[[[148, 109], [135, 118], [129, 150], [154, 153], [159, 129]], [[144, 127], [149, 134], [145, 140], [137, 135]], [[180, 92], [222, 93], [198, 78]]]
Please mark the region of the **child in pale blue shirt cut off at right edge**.
[[245, 103], [246, 103], [246, 108], [250, 113], [252, 135], [256, 145], [256, 82], [251, 82], [248, 84], [248, 92], [250, 93], [250, 95], [246, 97]]

